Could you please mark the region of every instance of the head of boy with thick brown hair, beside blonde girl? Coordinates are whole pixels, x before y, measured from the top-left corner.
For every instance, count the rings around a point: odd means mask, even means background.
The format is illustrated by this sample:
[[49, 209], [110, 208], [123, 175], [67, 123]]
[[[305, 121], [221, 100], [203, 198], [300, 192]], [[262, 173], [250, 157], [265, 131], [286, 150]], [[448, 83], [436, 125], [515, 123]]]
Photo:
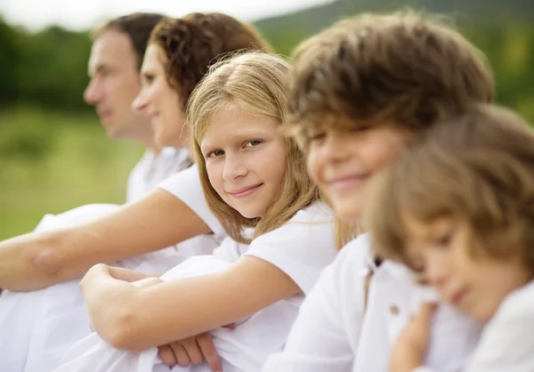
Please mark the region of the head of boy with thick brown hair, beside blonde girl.
[[289, 123], [312, 178], [345, 221], [358, 221], [370, 177], [436, 120], [489, 102], [481, 53], [415, 12], [363, 14], [299, 45]]

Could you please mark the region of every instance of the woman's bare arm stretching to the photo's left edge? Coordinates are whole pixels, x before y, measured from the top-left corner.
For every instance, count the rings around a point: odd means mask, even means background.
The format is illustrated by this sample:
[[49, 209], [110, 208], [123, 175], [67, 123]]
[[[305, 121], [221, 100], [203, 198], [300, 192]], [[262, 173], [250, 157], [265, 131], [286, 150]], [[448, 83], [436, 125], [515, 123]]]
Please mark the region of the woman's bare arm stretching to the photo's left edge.
[[31, 232], [0, 243], [0, 288], [28, 291], [211, 232], [189, 206], [165, 190], [77, 227]]

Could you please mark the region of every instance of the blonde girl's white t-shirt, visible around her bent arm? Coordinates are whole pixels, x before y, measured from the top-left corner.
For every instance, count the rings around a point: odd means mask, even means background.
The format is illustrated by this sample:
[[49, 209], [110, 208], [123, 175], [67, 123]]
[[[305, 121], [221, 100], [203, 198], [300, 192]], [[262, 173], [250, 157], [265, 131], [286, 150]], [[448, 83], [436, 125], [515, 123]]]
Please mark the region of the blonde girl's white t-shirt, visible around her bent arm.
[[[166, 272], [169, 281], [223, 270], [242, 255], [254, 255], [279, 267], [307, 293], [320, 271], [337, 253], [334, 217], [328, 207], [316, 204], [299, 211], [286, 224], [255, 239], [250, 246], [224, 239], [213, 256], [191, 257]], [[236, 322], [236, 328], [213, 331], [214, 344], [225, 372], [255, 372], [272, 352], [282, 350], [295, 321], [303, 295], [294, 295]], [[165, 372], [158, 349], [141, 354], [113, 349], [92, 335], [76, 344], [56, 372]], [[208, 372], [206, 365], [174, 367], [173, 372]]]

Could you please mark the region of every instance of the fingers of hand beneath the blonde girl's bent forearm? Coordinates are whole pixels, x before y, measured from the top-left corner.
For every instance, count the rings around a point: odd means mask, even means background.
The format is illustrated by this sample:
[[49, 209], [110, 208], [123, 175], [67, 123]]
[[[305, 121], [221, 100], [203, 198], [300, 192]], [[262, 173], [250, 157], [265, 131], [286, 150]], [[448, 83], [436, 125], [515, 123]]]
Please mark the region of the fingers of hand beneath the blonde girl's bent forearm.
[[209, 332], [159, 346], [158, 354], [159, 358], [169, 367], [174, 367], [175, 365], [187, 367], [191, 363], [201, 364], [206, 360], [212, 371], [221, 372], [223, 370], [221, 360], [215, 350], [214, 341]]

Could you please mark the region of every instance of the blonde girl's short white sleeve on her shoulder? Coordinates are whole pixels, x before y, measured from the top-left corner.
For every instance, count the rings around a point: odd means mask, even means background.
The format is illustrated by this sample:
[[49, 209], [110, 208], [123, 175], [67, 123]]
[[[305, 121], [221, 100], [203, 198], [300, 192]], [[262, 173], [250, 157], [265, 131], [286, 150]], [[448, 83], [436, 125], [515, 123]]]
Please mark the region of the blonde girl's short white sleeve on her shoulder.
[[272, 263], [307, 294], [336, 257], [334, 234], [334, 216], [326, 206], [309, 206], [279, 229], [254, 239], [245, 255]]

